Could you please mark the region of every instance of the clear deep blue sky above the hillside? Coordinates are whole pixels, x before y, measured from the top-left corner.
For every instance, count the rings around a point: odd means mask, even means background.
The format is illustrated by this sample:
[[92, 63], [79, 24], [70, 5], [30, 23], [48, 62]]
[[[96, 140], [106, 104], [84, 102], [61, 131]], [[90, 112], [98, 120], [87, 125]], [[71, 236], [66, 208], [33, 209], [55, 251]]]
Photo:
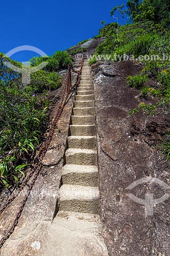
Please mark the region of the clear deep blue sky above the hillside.
[[[5, 0], [1, 2], [0, 52], [30, 45], [47, 55], [65, 50], [98, 34], [101, 20], [115, 22], [110, 11], [126, 0]], [[11, 58], [27, 61], [34, 52], [22, 51]]]

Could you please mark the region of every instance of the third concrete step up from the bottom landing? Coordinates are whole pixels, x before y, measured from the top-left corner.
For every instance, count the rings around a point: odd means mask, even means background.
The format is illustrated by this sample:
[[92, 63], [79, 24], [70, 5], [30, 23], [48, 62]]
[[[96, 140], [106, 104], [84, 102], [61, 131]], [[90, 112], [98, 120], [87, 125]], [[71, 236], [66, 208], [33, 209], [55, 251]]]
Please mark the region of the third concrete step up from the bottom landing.
[[97, 165], [97, 153], [95, 150], [68, 148], [65, 160], [66, 164]]

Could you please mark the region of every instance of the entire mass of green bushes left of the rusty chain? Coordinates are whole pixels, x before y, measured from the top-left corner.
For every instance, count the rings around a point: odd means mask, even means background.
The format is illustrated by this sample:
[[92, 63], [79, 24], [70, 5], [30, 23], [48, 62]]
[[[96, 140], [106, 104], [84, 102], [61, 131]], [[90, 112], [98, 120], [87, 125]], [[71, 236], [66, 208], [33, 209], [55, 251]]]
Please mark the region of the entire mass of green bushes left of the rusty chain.
[[61, 51], [51, 57], [32, 58], [33, 67], [43, 61], [48, 65], [32, 73], [27, 86], [22, 84], [21, 74], [8, 68], [5, 61], [22, 66], [0, 54], [0, 187], [11, 188], [25, 176], [25, 167], [42, 140], [51, 103], [47, 91], [61, 86], [61, 76], [56, 71], [66, 68], [71, 58]]

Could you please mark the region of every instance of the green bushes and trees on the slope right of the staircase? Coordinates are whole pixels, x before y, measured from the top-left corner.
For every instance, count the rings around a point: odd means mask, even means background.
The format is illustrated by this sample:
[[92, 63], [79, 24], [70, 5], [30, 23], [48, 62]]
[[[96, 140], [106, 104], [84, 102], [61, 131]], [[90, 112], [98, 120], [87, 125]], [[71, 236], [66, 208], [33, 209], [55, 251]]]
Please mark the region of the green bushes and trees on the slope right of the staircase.
[[[130, 23], [120, 26], [120, 17], [129, 16]], [[130, 114], [170, 114], [170, 5], [168, 0], [128, 0], [124, 5], [115, 6], [111, 16], [116, 23], [101, 22], [99, 36], [105, 41], [96, 48], [90, 65], [110, 55], [112, 61], [133, 60], [143, 69], [140, 74], [127, 78], [128, 87], [140, 90], [142, 101], [154, 99], [154, 103], [141, 102]], [[169, 133], [169, 131], [167, 131]], [[168, 138], [168, 139], [167, 139]], [[170, 155], [169, 135], [164, 138], [162, 152]]]

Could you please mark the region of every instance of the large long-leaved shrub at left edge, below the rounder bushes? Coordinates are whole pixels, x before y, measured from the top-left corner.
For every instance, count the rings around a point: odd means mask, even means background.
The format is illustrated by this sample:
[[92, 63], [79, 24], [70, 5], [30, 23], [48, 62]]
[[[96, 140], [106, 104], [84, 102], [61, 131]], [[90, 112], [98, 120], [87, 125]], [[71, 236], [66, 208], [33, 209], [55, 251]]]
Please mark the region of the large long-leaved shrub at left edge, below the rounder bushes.
[[39, 142], [48, 100], [28, 93], [26, 88], [18, 89], [14, 82], [1, 84], [0, 94], [0, 183], [8, 188], [9, 184], [18, 184], [22, 171], [17, 163]]

